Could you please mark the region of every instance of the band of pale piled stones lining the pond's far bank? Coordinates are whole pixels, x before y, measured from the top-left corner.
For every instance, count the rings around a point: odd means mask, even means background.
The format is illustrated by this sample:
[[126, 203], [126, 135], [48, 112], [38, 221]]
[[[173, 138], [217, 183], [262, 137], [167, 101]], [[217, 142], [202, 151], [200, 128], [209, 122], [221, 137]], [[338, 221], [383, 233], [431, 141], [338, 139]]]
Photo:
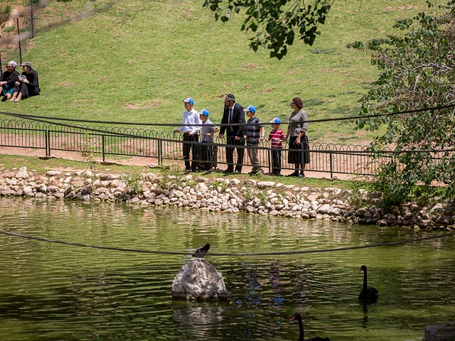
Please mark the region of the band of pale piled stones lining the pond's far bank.
[[[304, 184], [304, 182], [302, 182]], [[174, 205], [217, 212], [248, 212], [299, 219], [330, 220], [415, 229], [455, 229], [454, 205], [434, 198], [425, 205], [407, 202], [385, 212], [378, 197], [366, 190], [309, 188], [272, 181], [204, 178], [193, 175], [141, 175], [141, 194], [132, 194], [122, 175], [90, 171], [48, 171], [38, 175], [26, 167], [1, 170], [0, 195], [124, 201], [132, 205]], [[361, 202], [361, 207], [358, 204]]]

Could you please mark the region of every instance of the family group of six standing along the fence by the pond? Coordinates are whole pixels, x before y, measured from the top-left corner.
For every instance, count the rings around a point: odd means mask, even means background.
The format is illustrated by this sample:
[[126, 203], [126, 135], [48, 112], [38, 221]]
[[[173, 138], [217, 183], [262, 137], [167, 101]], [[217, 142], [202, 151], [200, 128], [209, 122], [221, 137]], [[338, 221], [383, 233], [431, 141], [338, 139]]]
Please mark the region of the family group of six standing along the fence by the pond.
[[[223, 118], [220, 128], [208, 118], [210, 112], [203, 109], [198, 112], [194, 109], [194, 99], [183, 99], [185, 112], [183, 124], [174, 130], [174, 133], [183, 134], [183, 160], [186, 172], [210, 171], [215, 165], [214, 135], [219, 132], [218, 139], [226, 136], [226, 163], [228, 168], [224, 173], [242, 173], [245, 143], [247, 154], [252, 164], [251, 174], [264, 173], [257, 155], [260, 141], [271, 141], [272, 148], [272, 175], [281, 175], [282, 170], [282, 142], [289, 139], [287, 162], [294, 165], [294, 172], [287, 176], [304, 178], [304, 169], [310, 162], [309, 139], [306, 134], [308, 117], [304, 111], [300, 97], [291, 100], [291, 115], [286, 134], [279, 128], [281, 119], [275, 117], [269, 124], [272, 130], [267, 138], [265, 129], [256, 117], [256, 108], [252, 105], [243, 109], [235, 100], [234, 94], [226, 95], [224, 99]], [[245, 121], [245, 114], [248, 119]], [[199, 136], [200, 134], [200, 136]], [[234, 163], [234, 151], [237, 152], [237, 161]], [[191, 158], [190, 158], [191, 154]]]

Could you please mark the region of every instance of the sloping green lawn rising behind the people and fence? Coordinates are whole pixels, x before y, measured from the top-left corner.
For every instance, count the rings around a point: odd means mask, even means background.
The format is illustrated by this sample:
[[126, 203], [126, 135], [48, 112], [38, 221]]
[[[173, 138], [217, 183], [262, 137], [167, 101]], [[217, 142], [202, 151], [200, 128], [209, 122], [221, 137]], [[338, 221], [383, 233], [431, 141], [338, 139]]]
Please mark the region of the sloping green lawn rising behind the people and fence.
[[[262, 121], [287, 120], [294, 96], [309, 119], [357, 114], [358, 99], [375, 80], [368, 53], [353, 40], [392, 31], [397, 18], [425, 9], [425, 1], [336, 1], [314, 46], [296, 43], [284, 60], [248, 48], [241, 16], [216, 23], [203, 0], [48, 1], [36, 36], [24, 46], [40, 74], [42, 95], [0, 110], [50, 117], [178, 124], [182, 99], [208, 108], [219, 123], [223, 97], [257, 107]], [[23, 44], [25, 45], [25, 43]], [[4, 50], [2, 60], [18, 59]], [[371, 134], [348, 121], [314, 123], [311, 141], [356, 144]], [[152, 128], [151, 128], [152, 129]], [[158, 127], [171, 131], [173, 127]], [[268, 130], [268, 129], [267, 129]]]

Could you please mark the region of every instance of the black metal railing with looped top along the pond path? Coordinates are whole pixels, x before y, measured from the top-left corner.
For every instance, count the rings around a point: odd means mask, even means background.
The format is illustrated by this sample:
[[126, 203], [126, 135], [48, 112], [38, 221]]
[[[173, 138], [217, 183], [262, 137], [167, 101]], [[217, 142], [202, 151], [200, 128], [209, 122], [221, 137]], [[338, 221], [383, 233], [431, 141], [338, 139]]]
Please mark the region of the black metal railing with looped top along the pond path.
[[[215, 139], [215, 165], [227, 164], [225, 140]], [[158, 164], [181, 161], [182, 144], [180, 134], [159, 132], [148, 129], [129, 129], [107, 126], [62, 126], [43, 124], [36, 121], [0, 121], [0, 146], [36, 148], [52, 156], [53, 151], [90, 151], [106, 161], [107, 156], [139, 156], [149, 158]], [[243, 148], [248, 148], [247, 146]], [[264, 171], [271, 171], [272, 148], [270, 142], [262, 141], [258, 150]], [[283, 143], [282, 169], [294, 169], [287, 163], [288, 145]], [[311, 163], [307, 171], [334, 174], [373, 175], [381, 162], [389, 156], [374, 156], [364, 146], [341, 144], [310, 144]], [[245, 166], [251, 166], [245, 153]]]

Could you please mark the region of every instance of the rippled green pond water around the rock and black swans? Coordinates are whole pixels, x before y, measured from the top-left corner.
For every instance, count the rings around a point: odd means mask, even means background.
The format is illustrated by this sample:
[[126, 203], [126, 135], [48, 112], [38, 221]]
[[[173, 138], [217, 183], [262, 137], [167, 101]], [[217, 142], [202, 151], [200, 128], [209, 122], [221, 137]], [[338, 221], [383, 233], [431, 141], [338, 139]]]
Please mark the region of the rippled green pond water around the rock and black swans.
[[[6, 232], [141, 250], [329, 249], [441, 232], [175, 207], [0, 198]], [[1, 340], [422, 340], [455, 317], [455, 238], [315, 254], [208, 256], [228, 302], [173, 301], [190, 256], [88, 249], [0, 234]], [[358, 302], [363, 275], [378, 303]]]

